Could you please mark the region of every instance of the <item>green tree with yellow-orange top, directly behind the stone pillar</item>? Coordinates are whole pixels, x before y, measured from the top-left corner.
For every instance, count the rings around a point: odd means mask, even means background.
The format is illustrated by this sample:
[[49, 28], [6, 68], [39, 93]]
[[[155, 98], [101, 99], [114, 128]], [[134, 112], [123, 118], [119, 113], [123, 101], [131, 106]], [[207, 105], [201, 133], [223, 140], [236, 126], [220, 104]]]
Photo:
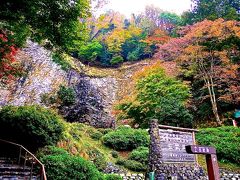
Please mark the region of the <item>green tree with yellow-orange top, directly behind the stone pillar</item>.
[[150, 119], [173, 126], [191, 126], [192, 115], [186, 108], [190, 96], [189, 87], [166, 76], [159, 64], [137, 75], [136, 91], [121, 102], [119, 117], [132, 118], [141, 127], [147, 127]]

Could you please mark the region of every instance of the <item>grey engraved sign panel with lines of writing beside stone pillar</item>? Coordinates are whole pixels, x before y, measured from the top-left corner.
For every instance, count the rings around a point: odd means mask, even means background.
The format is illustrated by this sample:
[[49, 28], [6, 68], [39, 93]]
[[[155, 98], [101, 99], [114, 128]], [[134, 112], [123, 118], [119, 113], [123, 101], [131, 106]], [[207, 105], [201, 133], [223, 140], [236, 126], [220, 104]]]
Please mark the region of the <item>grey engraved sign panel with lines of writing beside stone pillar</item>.
[[191, 132], [159, 129], [159, 135], [163, 162], [195, 162], [195, 156], [188, 154], [185, 149], [187, 145], [194, 145]]

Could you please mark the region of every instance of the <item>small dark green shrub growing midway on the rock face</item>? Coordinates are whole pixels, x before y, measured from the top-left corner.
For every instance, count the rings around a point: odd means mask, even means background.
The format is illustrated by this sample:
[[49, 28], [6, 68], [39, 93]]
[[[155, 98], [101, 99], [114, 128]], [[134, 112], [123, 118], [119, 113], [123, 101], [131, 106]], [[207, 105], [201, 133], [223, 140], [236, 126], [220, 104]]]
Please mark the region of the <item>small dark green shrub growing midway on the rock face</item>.
[[72, 105], [76, 101], [76, 94], [73, 88], [68, 88], [61, 85], [57, 94], [58, 94], [58, 98], [62, 102], [62, 105], [64, 106]]

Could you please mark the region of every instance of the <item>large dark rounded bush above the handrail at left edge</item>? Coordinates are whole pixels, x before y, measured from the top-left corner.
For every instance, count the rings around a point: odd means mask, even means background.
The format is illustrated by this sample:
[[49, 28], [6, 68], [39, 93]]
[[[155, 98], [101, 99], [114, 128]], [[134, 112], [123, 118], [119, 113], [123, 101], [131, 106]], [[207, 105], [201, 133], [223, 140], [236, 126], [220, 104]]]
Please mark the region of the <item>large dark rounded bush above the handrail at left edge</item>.
[[0, 137], [36, 150], [55, 144], [64, 130], [55, 112], [40, 106], [5, 106], [0, 110]]

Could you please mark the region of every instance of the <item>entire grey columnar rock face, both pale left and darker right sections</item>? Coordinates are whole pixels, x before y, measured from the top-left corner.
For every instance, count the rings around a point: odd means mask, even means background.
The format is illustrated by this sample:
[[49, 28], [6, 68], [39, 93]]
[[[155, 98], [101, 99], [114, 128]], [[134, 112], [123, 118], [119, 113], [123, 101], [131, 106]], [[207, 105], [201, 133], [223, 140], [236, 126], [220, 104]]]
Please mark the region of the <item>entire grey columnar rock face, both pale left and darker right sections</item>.
[[28, 41], [17, 59], [24, 65], [25, 75], [9, 88], [0, 90], [0, 106], [43, 104], [44, 94], [56, 94], [60, 85], [72, 87], [76, 103], [60, 107], [69, 121], [85, 122], [95, 127], [112, 127], [111, 106], [118, 84], [111, 77], [89, 77], [73, 69], [68, 72], [52, 61], [51, 51]]

